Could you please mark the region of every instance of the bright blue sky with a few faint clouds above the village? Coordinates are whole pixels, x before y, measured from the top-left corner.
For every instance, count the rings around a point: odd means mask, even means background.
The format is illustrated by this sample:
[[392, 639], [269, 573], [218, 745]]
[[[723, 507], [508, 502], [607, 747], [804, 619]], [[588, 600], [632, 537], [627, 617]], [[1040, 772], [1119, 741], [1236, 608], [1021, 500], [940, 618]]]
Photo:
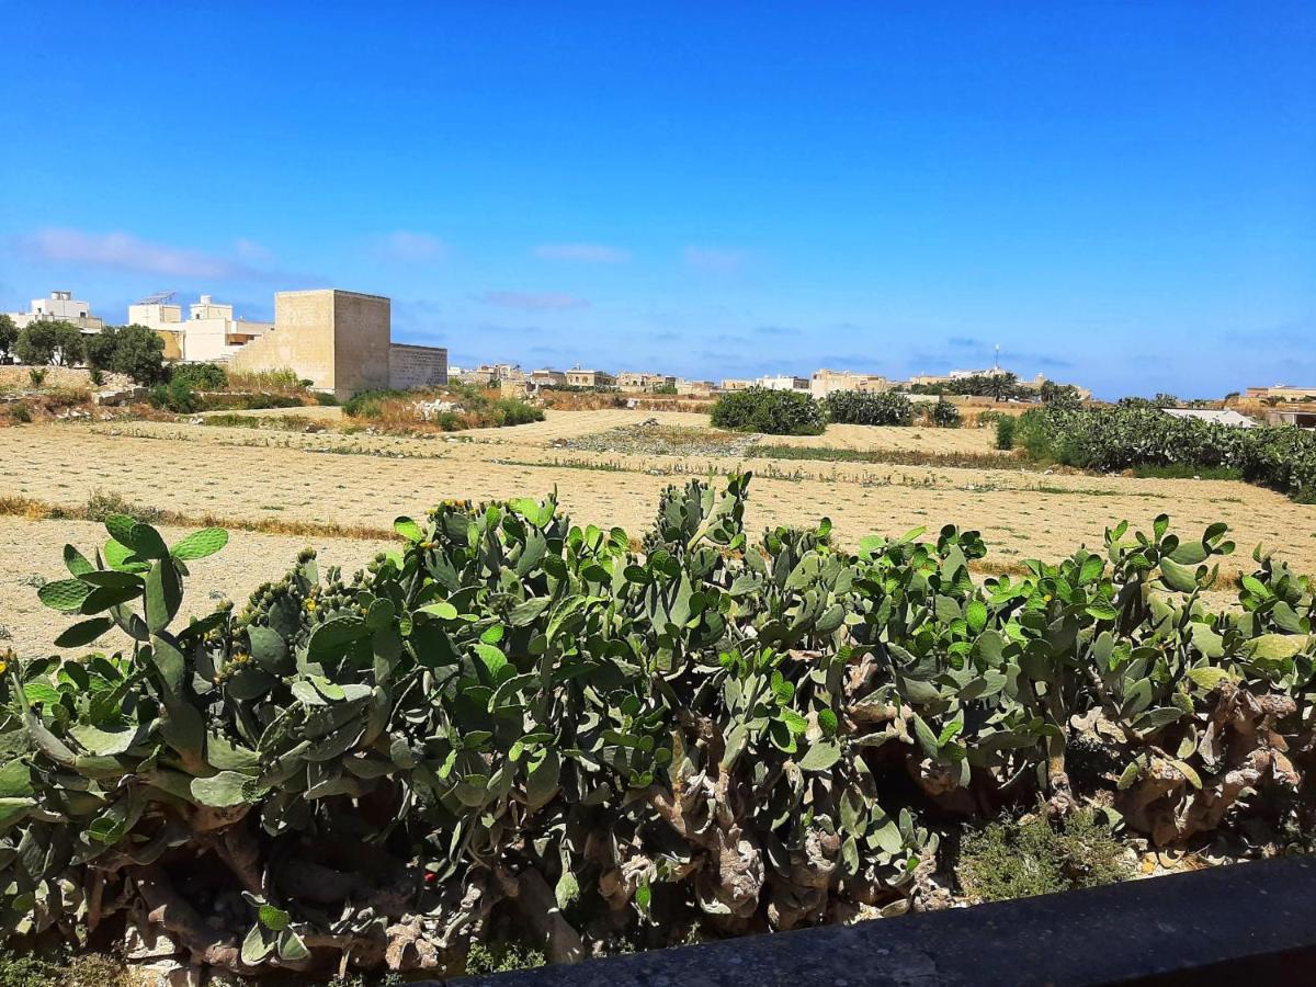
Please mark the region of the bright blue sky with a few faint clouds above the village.
[[1316, 4], [0, 0], [0, 309], [454, 363], [1316, 383]]

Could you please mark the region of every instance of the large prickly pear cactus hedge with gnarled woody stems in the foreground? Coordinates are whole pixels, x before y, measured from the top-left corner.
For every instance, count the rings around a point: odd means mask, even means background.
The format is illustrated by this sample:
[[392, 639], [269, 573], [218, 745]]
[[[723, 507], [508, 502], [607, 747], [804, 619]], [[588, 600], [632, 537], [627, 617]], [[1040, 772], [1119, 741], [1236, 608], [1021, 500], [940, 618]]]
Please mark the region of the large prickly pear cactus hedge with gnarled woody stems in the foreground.
[[670, 488], [638, 551], [445, 503], [192, 622], [224, 533], [111, 517], [41, 590], [78, 657], [3, 676], [0, 928], [455, 973], [507, 915], [565, 961], [920, 908], [940, 833], [1038, 799], [1171, 845], [1309, 797], [1312, 583], [1258, 551], [1212, 609], [1221, 525], [978, 580], [955, 528], [751, 542], [747, 479]]

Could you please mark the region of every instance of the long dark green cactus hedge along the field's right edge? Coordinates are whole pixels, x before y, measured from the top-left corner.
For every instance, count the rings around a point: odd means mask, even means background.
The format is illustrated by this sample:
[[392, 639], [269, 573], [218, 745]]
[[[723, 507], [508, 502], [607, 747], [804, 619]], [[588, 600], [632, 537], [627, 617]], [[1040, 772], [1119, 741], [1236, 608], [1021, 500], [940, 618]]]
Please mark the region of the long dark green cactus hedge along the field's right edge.
[[1038, 462], [1101, 472], [1157, 467], [1241, 475], [1316, 503], [1316, 433], [1291, 425], [1234, 428], [1133, 405], [1034, 408], [1019, 418], [1009, 441]]

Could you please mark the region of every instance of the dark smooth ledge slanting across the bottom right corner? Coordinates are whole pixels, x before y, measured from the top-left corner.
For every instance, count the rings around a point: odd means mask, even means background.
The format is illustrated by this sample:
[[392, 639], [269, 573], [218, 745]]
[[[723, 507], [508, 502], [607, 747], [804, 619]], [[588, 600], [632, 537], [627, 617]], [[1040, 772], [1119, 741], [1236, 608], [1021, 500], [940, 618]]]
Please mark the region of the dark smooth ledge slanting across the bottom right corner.
[[749, 936], [466, 987], [1274, 987], [1316, 983], [1316, 857]]

